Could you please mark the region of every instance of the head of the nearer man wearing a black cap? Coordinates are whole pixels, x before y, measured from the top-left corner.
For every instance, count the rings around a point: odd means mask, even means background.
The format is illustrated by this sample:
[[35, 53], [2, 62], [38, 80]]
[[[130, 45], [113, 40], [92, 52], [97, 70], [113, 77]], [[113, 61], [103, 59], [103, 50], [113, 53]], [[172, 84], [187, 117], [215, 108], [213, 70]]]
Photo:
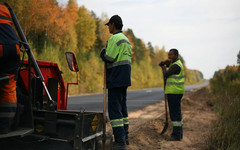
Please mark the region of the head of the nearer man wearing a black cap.
[[105, 25], [108, 26], [109, 32], [112, 34], [118, 32], [118, 31], [121, 31], [122, 27], [123, 27], [122, 19], [118, 15], [112, 16], [109, 19], [108, 23], [106, 23]]

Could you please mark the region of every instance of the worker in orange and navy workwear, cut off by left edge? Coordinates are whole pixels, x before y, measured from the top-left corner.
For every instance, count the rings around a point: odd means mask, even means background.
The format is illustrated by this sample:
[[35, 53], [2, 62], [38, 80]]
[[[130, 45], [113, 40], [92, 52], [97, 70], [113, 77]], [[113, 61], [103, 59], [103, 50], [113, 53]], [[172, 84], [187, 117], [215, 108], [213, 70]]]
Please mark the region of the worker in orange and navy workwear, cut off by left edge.
[[0, 76], [9, 76], [8, 84], [0, 84], [0, 134], [11, 129], [17, 108], [15, 75], [20, 64], [20, 48], [12, 25], [8, 8], [0, 3]]

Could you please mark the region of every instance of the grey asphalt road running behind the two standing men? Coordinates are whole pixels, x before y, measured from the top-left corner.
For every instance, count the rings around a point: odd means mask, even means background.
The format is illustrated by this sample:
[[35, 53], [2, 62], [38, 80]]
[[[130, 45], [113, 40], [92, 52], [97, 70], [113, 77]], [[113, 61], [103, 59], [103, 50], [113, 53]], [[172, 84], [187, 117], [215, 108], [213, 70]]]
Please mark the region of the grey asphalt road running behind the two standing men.
[[[204, 84], [188, 85], [185, 90], [191, 90], [206, 86]], [[158, 103], [164, 100], [163, 88], [151, 88], [142, 90], [129, 90], [127, 92], [127, 106], [129, 112], [142, 109], [148, 105]], [[103, 111], [103, 94], [91, 94], [82, 96], [72, 96], [68, 98], [68, 110], [81, 110], [90, 112]]]

